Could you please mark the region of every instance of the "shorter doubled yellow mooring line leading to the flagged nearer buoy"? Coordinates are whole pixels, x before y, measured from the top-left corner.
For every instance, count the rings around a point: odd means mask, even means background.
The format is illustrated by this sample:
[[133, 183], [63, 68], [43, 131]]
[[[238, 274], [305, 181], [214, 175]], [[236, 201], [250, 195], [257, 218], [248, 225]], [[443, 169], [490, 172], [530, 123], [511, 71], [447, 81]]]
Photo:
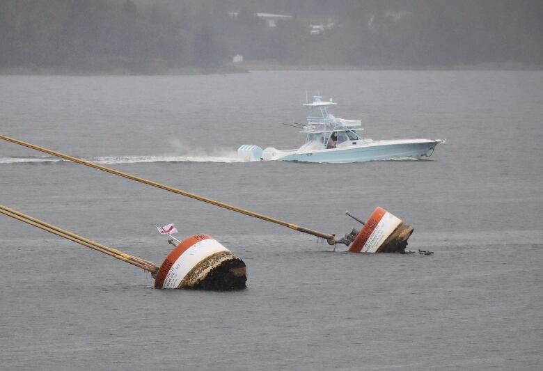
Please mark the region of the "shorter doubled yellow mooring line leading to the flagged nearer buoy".
[[136, 267], [139, 267], [141, 269], [145, 269], [145, 271], [150, 271], [151, 274], [157, 274], [157, 271], [159, 269], [159, 267], [157, 267], [157, 265], [152, 262], [137, 258], [136, 256], [128, 255], [127, 253], [123, 253], [123, 251], [119, 251], [116, 248], [111, 248], [102, 244], [98, 244], [97, 242], [78, 236], [75, 233], [69, 232], [68, 230], [63, 230], [61, 228], [53, 226], [52, 224], [45, 223], [45, 221], [41, 221], [40, 219], [33, 218], [32, 216], [23, 214], [22, 212], [18, 212], [17, 210], [10, 209], [10, 207], [0, 205], [0, 213], [11, 216], [13, 219], [17, 219], [24, 223], [30, 224], [31, 226], [38, 227], [42, 230], [47, 230], [47, 232], [53, 233], [54, 235], [63, 237], [65, 239], [70, 239], [70, 241], [77, 242], [78, 244], [87, 246], [89, 248], [92, 248], [93, 250], [100, 251], [100, 253], [113, 256], [113, 258], [135, 265]]

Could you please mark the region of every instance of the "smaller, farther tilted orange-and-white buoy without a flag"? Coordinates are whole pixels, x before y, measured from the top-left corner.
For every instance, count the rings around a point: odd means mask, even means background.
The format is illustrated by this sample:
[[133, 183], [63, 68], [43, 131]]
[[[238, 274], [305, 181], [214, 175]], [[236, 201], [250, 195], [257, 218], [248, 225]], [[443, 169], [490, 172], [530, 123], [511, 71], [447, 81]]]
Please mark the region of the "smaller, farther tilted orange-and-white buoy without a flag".
[[404, 253], [413, 227], [377, 207], [356, 235], [351, 253]]

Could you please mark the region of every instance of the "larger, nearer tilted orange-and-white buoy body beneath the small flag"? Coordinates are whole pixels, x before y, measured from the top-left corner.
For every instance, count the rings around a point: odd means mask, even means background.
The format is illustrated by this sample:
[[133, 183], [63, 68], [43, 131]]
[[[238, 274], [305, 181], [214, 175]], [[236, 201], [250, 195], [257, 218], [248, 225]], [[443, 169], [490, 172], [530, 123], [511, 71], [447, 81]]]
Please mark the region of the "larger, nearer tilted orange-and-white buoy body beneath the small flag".
[[155, 278], [162, 289], [244, 289], [246, 267], [228, 248], [208, 235], [192, 235], [168, 254]]

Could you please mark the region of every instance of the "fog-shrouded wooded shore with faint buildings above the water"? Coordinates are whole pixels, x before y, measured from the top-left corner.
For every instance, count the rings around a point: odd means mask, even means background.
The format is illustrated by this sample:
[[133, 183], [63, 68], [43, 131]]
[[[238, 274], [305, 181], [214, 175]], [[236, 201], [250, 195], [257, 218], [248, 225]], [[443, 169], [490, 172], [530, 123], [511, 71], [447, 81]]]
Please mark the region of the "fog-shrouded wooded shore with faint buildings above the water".
[[537, 0], [4, 0], [0, 72], [533, 70], [542, 19]]

